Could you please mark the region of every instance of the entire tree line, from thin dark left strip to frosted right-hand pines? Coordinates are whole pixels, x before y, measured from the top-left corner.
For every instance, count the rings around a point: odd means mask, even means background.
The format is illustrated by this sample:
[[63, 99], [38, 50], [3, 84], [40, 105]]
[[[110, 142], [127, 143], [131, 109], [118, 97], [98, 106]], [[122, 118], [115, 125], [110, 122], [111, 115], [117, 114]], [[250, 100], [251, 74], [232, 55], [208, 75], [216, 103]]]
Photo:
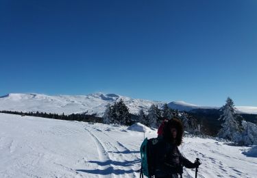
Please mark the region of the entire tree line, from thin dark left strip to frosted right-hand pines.
[[[0, 111], [6, 114], [19, 114], [22, 116], [38, 116], [42, 118], [53, 118], [60, 120], [77, 120], [93, 123], [106, 123], [106, 124], [118, 124], [118, 125], [132, 125], [136, 122], [142, 123], [147, 127], [158, 128], [164, 118], [172, 119], [178, 118], [184, 125], [184, 130], [191, 133], [204, 133], [202, 123], [199, 123], [196, 116], [188, 112], [178, 112], [178, 110], [172, 110], [166, 104], [162, 108], [158, 105], [151, 105], [149, 110], [139, 110], [138, 114], [130, 114], [129, 108], [125, 105], [121, 99], [115, 102], [113, 105], [107, 105], [103, 117], [97, 117], [96, 114], [55, 114], [46, 112], [16, 112], [16, 111]], [[225, 138], [236, 142], [238, 144], [257, 144], [257, 125], [247, 122], [240, 114], [237, 114], [234, 109], [234, 102], [228, 97], [225, 105], [219, 110], [219, 129], [217, 135], [219, 138]], [[210, 128], [213, 127], [209, 126]]]

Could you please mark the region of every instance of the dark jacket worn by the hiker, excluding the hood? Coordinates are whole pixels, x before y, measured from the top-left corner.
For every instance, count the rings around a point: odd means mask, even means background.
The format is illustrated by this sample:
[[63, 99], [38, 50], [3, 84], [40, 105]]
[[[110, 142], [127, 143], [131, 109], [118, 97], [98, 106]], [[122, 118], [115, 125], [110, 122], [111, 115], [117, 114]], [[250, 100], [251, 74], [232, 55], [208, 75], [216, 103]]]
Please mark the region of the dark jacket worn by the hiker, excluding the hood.
[[171, 177], [183, 173], [183, 167], [195, 168], [195, 164], [187, 160], [175, 144], [158, 138], [154, 145], [154, 175], [156, 177]]

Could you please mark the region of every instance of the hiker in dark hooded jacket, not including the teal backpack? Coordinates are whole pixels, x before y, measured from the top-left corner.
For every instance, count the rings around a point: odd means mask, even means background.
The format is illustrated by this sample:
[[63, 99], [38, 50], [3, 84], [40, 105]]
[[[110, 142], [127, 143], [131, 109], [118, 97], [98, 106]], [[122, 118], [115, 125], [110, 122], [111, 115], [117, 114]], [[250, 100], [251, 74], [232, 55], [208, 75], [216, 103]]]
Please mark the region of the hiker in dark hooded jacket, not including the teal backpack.
[[156, 178], [182, 177], [183, 166], [198, 168], [199, 160], [195, 163], [187, 160], [178, 150], [182, 142], [183, 126], [180, 120], [173, 118], [164, 125], [163, 137], [156, 142], [154, 160], [154, 175]]

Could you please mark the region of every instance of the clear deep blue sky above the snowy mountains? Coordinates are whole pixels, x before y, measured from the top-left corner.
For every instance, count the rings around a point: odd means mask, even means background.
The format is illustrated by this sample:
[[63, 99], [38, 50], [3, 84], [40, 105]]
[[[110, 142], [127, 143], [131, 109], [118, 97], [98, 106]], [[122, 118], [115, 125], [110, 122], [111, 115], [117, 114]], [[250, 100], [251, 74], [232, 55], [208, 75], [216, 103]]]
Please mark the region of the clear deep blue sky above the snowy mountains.
[[257, 106], [257, 1], [0, 2], [0, 95]]

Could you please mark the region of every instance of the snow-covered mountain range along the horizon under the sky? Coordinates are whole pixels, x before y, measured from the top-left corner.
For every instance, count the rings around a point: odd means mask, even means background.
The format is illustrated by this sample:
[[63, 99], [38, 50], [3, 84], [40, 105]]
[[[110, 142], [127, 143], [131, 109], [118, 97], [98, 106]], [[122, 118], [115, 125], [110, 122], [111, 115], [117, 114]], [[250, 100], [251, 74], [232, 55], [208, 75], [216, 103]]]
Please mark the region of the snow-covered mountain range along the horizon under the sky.
[[[106, 105], [112, 105], [115, 101], [123, 99], [130, 113], [138, 114], [140, 109], [145, 112], [152, 104], [162, 107], [162, 101], [149, 101], [145, 99], [132, 99], [117, 94], [103, 94], [101, 92], [88, 95], [58, 95], [49, 96], [46, 94], [21, 94], [11, 93], [0, 97], [0, 110], [22, 111], [22, 112], [51, 112], [57, 114], [84, 113], [103, 116]], [[191, 111], [194, 109], [219, 109], [219, 107], [199, 106], [184, 101], [173, 101], [168, 104], [173, 110]], [[257, 114], [257, 107], [236, 107], [237, 112]]]

